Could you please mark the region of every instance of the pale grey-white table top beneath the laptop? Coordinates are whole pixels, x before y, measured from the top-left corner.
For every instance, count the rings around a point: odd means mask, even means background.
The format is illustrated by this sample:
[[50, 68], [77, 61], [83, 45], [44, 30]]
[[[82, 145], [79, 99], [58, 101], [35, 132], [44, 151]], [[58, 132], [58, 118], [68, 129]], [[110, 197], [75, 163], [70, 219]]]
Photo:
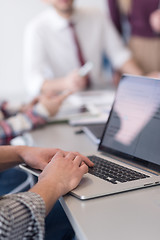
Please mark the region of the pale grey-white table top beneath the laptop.
[[[32, 132], [37, 146], [58, 147], [89, 154], [97, 146], [67, 124]], [[160, 186], [81, 201], [60, 199], [79, 240], [159, 240]]]

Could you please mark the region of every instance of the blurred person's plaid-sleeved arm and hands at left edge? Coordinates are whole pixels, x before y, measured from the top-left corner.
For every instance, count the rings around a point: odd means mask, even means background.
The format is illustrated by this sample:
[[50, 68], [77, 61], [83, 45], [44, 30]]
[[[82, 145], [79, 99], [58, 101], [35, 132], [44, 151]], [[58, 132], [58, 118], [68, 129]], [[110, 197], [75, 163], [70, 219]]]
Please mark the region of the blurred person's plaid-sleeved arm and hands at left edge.
[[70, 93], [41, 95], [31, 103], [19, 106], [0, 101], [0, 145], [9, 144], [12, 138], [46, 124]]

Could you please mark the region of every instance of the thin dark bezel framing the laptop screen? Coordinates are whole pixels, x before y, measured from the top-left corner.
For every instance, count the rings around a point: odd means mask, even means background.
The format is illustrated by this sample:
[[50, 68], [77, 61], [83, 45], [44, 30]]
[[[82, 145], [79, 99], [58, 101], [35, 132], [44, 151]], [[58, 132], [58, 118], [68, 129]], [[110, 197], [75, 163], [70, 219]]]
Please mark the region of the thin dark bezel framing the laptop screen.
[[[135, 78], [137, 78], [138, 76], [133, 76], [133, 75], [128, 75], [128, 74], [126, 74], [126, 75], [123, 75], [123, 76], [121, 77], [120, 82], [122, 82], [123, 79], [126, 78], [126, 77], [132, 77], [132, 78], [135, 77]], [[145, 78], [151, 79], [151, 78], [148, 78], [148, 77], [145, 77]], [[154, 80], [155, 80], [155, 79], [154, 79]], [[157, 80], [158, 80], [158, 79], [157, 79]], [[120, 85], [120, 84], [119, 84], [119, 85]], [[117, 91], [118, 91], [118, 88], [119, 88], [119, 86], [117, 87]], [[116, 94], [115, 94], [115, 96], [116, 96]], [[115, 97], [115, 99], [116, 99], [116, 97]], [[106, 129], [107, 129], [107, 127], [108, 127], [109, 121], [110, 121], [110, 119], [111, 119], [111, 115], [112, 115], [112, 112], [113, 112], [113, 109], [114, 109], [114, 105], [115, 105], [115, 100], [114, 100], [114, 102], [113, 102], [113, 105], [112, 105], [112, 108], [111, 108], [109, 117], [108, 117], [108, 119], [107, 119], [107, 121], [106, 121], [105, 128], [104, 128], [104, 131], [103, 131], [103, 134], [102, 134], [100, 143], [99, 143], [99, 145], [98, 145], [98, 151], [101, 151], [101, 152], [103, 152], [103, 153], [105, 153], [105, 154], [109, 154], [109, 155], [111, 155], [111, 156], [116, 156], [117, 158], [124, 159], [124, 160], [127, 160], [127, 161], [131, 162], [131, 163], [139, 164], [139, 165], [142, 166], [142, 167], [146, 167], [146, 168], [149, 168], [149, 169], [151, 169], [151, 170], [160, 172], [160, 165], [158, 165], [158, 164], [149, 162], [149, 161], [147, 161], [147, 160], [145, 160], [145, 159], [138, 158], [138, 157], [135, 157], [135, 156], [130, 155], [130, 154], [126, 154], [126, 153], [124, 153], [124, 152], [120, 152], [120, 151], [118, 151], [118, 150], [115, 150], [115, 149], [113, 149], [113, 148], [109, 148], [109, 147], [106, 147], [106, 146], [103, 145], [103, 138], [104, 138]]]

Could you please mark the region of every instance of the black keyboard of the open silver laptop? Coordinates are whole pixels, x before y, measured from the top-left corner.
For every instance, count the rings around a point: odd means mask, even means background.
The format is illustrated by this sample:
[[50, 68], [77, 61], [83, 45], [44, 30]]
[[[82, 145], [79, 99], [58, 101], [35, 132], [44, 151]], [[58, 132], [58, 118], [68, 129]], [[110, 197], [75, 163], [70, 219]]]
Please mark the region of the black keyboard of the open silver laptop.
[[113, 184], [149, 177], [97, 156], [88, 156], [88, 158], [95, 164], [93, 168], [89, 168], [89, 173]]

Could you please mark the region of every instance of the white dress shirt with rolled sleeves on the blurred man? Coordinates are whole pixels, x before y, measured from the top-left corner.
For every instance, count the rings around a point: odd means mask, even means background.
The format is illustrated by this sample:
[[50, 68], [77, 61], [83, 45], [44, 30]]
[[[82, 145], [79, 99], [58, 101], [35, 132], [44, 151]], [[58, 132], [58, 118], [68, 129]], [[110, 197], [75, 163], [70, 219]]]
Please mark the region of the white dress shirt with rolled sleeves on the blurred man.
[[[72, 21], [86, 61], [93, 63], [92, 87], [102, 79], [102, 55], [106, 53], [114, 68], [119, 69], [131, 58], [109, 18], [99, 10], [74, 10]], [[24, 43], [24, 79], [30, 94], [37, 95], [45, 79], [66, 76], [80, 67], [77, 49], [68, 21], [53, 7], [29, 23]]]

